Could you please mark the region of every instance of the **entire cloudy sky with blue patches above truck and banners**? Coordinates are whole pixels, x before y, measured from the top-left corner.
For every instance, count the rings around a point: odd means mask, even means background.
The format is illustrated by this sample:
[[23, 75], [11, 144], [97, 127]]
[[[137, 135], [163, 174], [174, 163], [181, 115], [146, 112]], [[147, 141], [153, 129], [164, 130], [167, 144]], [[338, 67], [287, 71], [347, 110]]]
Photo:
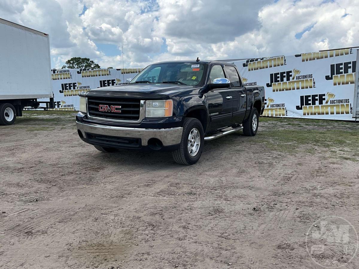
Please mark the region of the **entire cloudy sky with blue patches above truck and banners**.
[[0, 18], [50, 35], [51, 66], [293, 55], [359, 46], [359, 0], [1, 0]]

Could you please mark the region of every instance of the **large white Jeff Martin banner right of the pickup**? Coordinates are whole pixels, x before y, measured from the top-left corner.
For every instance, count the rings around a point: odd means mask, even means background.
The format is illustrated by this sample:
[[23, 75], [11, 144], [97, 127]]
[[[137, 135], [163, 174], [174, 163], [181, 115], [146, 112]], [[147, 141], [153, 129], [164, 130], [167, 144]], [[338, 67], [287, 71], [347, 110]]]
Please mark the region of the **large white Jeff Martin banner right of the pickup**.
[[264, 86], [264, 116], [353, 120], [356, 49], [232, 62], [246, 86]]

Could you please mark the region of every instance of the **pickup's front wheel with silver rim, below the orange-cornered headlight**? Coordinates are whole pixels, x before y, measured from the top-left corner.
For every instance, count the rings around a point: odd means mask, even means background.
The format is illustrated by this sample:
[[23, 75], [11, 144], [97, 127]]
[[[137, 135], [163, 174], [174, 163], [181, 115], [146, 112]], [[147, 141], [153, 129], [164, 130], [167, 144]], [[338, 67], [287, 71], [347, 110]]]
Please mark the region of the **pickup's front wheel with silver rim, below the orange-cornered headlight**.
[[[188, 145], [191, 153], [188, 150]], [[173, 160], [177, 164], [195, 164], [201, 157], [203, 146], [204, 131], [201, 122], [195, 118], [186, 118], [183, 124], [180, 147], [172, 152]]]

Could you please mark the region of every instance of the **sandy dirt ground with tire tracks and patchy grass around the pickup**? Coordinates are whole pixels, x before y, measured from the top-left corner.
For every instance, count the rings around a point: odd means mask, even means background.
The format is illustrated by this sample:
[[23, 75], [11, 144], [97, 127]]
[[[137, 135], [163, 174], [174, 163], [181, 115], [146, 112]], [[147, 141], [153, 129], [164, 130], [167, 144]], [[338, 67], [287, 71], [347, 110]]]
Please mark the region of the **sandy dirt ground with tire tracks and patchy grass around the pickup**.
[[257, 136], [206, 142], [181, 166], [99, 152], [74, 113], [24, 115], [0, 126], [0, 268], [320, 268], [314, 222], [359, 232], [357, 123], [261, 118]]

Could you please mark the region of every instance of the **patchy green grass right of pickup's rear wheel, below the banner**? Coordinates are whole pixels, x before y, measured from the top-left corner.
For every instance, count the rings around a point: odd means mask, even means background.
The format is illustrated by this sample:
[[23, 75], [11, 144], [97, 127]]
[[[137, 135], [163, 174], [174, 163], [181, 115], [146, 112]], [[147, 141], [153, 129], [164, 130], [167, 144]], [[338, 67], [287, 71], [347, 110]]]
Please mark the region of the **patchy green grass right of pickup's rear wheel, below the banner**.
[[313, 156], [320, 151], [335, 159], [359, 161], [358, 123], [270, 117], [261, 117], [260, 122], [269, 123], [257, 136], [270, 150], [289, 154], [306, 152]]

